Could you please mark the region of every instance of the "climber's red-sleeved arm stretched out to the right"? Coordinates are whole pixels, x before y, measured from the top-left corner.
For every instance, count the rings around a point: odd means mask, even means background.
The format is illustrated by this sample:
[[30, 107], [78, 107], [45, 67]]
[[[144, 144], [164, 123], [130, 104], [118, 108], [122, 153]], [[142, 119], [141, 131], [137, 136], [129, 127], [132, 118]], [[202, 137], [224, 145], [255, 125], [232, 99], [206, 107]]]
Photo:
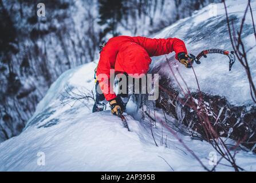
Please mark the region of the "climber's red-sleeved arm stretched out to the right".
[[146, 37], [132, 37], [133, 41], [144, 47], [147, 50], [150, 57], [169, 54], [172, 51], [176, 53], [176, 59], [178, 59], [179, 53], [187, 54], [185, 43], [178, 38], [146, 38]]

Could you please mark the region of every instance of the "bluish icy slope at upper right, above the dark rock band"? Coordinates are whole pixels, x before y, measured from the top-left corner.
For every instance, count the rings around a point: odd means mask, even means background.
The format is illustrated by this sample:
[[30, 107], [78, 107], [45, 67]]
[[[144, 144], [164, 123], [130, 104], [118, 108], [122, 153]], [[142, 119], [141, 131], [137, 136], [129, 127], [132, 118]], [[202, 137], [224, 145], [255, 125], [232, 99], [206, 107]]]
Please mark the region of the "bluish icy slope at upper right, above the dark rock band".
[[[234, 27], [238, 30], [240, 21], [246, 9], [247, 1], [230, 0], [226, 1], [229, 18], [234, 21]], [[187, 45], [189, 53], [197, 55], [202, 50], [218, 48], [233, 50], [229, 31], [227, 29], [226, 15], [223, 3], [216, 4], [216, 16], [212, 16], [209, 12], [212, 6], [204, 7], [202, 10], [195, 12], [192, 17], [181, 19], [173, 25], [166, 27], [160, 33], [155, 35], [156, 38], [178, 37], [183, 39]], [[256, 1], [251, 1], [251, 8], [256, 14]], [[256, 82], [256, 41], [254, 37], [253, 25], [251, 23], [250, 13], [246, 15], [245, 26], [243, 27], [242, 39], [245, 42], [246, 50], [251, 49], [248, 53], [249, 65]], [[183, 75], [188, 87], [192, 91], [198, 89], [192, 69], [187, 69], [178, 63], [174, 56], [170, 54], [171, 65], [176, 65], [180, 73]], [[194, 64], [195, 73], [197, 74], [200, 89], [203, 92], [224, 96], [233, 105], [253, 105], [250, 96], [250, 87], [245, 70], [241, 63], [236, 61], [233, 69], [229, 71], [229, 58], [220, 54], [208, 54], [208, 58], [202, 58], [201, 64]], [[152, 68], [160, 66], [160, 70], [170, 75], [174, 81], [174, 76], [167, 66], [165, 57], [157, 57], [152, 61]], [[183, 85], [182, 79], [178, 76], [179, 82]], [[176, 83], [174, 81], [174, 83]], [[185, 88], [185, 87], [184, 87]]]

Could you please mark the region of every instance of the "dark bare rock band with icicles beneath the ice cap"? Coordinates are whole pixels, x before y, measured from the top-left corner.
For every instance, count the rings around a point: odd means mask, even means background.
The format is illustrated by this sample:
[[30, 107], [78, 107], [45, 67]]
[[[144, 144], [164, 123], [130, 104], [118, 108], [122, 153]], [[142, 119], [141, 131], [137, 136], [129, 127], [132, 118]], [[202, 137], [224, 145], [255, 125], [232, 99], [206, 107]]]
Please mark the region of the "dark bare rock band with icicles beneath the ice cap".
[[[199, 122], [199, 115], [187, 105], [186, 99], [179, 98], [179, 91], [172, 87], [170, 79], [162, 75], [159, 83], [164, 89], [159, 89], [159, 100], [156, 106], [164, 109], [170, 116], [178, 120], [178, 124], [186, 125], [191, 136], [199, 136], [207, 140], [202, 123]], [[167, 92], [168, 91], [168, 92]], [[229, 137], [238, 142], [241, 148], [256, 152], [256, 108], [255, 106], [234, 106], [225, 97], [212, 96], [202, 93], [202, 102], [199, 93], [191, 93], [198, 109], [204, 105], [204, 114], [207, 114], [215, 132], [220, 137]], [[180, 100], [185, 101], [181, 103]], [[198, 104], [199, 103], [199, 104]], [[199, 110], [200, 110], [199, 109]]]

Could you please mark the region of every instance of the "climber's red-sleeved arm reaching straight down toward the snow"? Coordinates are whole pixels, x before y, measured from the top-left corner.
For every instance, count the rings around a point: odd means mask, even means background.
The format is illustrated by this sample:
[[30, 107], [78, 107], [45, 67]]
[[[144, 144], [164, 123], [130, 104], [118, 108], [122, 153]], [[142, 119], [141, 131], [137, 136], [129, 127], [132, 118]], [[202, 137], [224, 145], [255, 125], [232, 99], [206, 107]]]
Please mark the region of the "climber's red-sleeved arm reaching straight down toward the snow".
[[[106, 50], [107, 46], [101, 51], [100, 60], [97, 67], [97, 80], [99, 81], [99, 86], [101, 91], [103, 92], [107, 101], [111, 101], [116, 98], [115, 92], [113, 92], [113, 86], [111, 85], [110, 78], [111, 78], [111, 51]], [[114, 73], [113, 73], [114, 74]]]

